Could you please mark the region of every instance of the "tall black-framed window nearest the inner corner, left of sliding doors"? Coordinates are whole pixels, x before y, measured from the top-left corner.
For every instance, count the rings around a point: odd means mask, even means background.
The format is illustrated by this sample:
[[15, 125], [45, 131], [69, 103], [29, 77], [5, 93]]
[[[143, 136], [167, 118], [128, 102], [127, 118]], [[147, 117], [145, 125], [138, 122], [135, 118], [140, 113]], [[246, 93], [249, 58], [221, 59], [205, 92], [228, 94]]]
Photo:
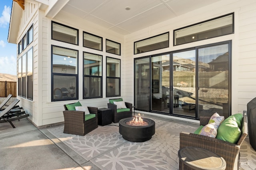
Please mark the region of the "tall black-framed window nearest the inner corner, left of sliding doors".
[[106, 59], [106, 97], [121, 96], [120, 62], [120, 59]]

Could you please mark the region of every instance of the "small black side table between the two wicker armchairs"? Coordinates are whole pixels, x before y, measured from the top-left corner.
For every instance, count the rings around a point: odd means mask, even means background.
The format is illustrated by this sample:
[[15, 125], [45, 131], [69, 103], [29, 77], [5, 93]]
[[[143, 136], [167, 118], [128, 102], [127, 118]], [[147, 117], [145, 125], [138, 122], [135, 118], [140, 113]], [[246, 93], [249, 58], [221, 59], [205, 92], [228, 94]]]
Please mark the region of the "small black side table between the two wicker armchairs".
[[98, 125], [109, 125], [112, 123], [112, 110], [108, 108], [98, 109]]

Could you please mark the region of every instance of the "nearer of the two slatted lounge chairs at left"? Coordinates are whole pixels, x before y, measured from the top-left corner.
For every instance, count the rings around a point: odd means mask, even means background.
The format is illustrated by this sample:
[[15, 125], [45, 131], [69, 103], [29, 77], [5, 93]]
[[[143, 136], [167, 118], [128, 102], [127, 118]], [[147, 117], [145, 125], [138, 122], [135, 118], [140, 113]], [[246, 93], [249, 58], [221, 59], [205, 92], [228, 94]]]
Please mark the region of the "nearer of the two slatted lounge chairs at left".
[[19, 111], [19, 112], [11, 111], [13, 108], [15, 108], [15, 106], [18, 102], [20, 102], [20, 100], [15, 99], [8, 107], [6, 107], [4, 110], [0, 111], [0, 123], [9, 122], [12, 125], [12, 127], [15, 128], [12, 121], [20, 120], [24, 117], [29, 116], [28, 114], [26, 114], [25, 111]]

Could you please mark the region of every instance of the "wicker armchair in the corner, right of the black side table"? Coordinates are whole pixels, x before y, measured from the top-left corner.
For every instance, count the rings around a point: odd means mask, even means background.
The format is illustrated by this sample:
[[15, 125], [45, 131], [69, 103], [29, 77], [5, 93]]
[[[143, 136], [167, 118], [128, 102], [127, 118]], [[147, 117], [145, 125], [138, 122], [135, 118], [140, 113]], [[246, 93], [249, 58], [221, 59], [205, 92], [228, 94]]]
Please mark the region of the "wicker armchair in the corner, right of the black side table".
[[[122, 101], [122, 99], [110, 99], [109, 101]], [[124, 102], [125, 106], [130, 109], [129, 111], [122, 111], [118, 112], [118, 109], [115, 104], [108, 103], [108, 108], [112, 109], [112, 122], [118, 123], [121, 119], [124, 119], [126, 117], [132, 117], [132, 104], [129, 102]]]

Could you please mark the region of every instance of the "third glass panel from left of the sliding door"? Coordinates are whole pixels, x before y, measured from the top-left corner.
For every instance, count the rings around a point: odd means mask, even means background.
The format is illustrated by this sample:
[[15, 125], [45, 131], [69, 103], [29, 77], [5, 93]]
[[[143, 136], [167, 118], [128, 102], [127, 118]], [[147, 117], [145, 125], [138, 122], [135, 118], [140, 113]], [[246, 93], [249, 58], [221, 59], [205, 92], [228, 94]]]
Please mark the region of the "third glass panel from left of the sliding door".
[[196, 116], [195, 50], [173, 53], [173, 113]]

